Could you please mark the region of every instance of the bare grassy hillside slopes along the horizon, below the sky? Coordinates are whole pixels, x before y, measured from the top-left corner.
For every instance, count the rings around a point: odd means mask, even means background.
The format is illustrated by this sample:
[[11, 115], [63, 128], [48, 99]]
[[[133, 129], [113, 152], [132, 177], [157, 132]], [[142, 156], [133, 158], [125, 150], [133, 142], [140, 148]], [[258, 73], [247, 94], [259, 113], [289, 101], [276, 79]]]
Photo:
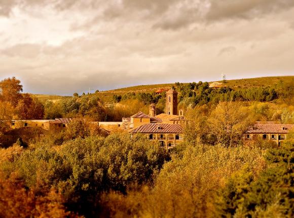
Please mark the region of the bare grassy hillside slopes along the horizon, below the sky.
[[[225, 84], [228, 87], [232, 87], [233, 89], [244, 88], [244, 87], [261, 87], [261, 86], [270, 86], [279, 83], [280, 81], [288, 82], [294, 80], [294, 76], [286, 76], [286, 77], [260, 77], [260, 78], [250, 78], [250, 79], [239, 79], [239, 80], [227, 80]], [[193, 81], [191, 81], [193, 82]], [[204, 81], [205, 82], [205, 81]], [[223, 83], [223, 81], [216, 81]], [[212, 82], [209, 82], [212, 83]], [[95, 94], [90, 94], [92, 96], [98, 96], [102, 101], [109, 102], [112, 101], [113, 96], [123, 95], [127, 92], [155, 92], [160, 88], [170, 88], [174, 84], [156, 84], [156, 85], [140, 85], [140, 86], [132, 86], [121, 89], [114, 89], [108, 91], [101, 91]], [[50, 101], [58, 101], [62, 98], [62, 96], [58, 95], [39, 95], [34, 94], [35, 97], [39, 98], [42, 102], [46, 100]]]

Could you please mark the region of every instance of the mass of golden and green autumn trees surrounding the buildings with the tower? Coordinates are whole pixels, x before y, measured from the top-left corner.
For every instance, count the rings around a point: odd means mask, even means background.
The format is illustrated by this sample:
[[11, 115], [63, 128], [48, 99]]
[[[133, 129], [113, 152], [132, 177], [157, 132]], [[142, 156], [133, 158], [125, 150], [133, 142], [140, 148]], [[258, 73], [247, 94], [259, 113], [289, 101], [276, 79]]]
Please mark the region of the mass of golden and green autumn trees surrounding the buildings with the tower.
[[[6, 94], [10, 86], [17, 101]], [[41, 116], [40, 101], [21, 94], [18, 80], [2, 81], [0, 88], [0, 134], [9, 128], [2, 121]], [[117, 95], [116, 106], [95, 94], [46, 101], [45, 118], [77, 119], [40, 142], [24, 147], [18, 140], [0, 149], [0, 216], [292, 217], [292, 134], [280, 147], [242, 139], [255, 120], [294, 123], [291, 87], [175, 88], [189, 122], [185, 141], [171, 153], [144, 135], [108, 135], [87, 122], [146, 113], [151, 102], [162, 112], [164, 92]]]

